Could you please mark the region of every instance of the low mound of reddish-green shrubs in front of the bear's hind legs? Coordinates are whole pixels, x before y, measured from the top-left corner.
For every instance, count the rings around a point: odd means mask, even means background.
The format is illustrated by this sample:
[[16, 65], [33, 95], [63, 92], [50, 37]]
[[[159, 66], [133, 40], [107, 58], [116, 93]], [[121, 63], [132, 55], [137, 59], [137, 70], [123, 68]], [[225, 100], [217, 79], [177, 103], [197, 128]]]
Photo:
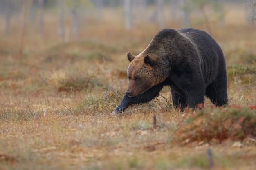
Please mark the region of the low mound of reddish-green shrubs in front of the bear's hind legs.
[[186, 144], [193, 141], [221, 143], [226, 139], [242, 141], [256, 137], [255, 108], [233, 105], [227, 108], [209, 108], [187, 113], [173, 139]]

